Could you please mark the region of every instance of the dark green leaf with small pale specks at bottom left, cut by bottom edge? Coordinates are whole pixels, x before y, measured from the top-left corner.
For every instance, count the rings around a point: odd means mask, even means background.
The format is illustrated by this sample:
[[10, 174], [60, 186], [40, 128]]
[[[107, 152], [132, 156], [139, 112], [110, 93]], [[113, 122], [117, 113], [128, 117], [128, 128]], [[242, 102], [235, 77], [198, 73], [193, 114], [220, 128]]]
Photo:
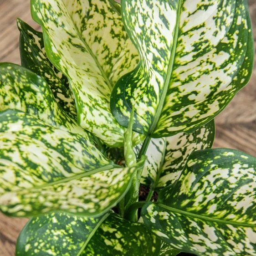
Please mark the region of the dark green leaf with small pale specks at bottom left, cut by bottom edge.
[[116, 214], [86, 218], [52, 212], [31, 218], [16, 256], [158, 256], [160, 240], [145, 225]]

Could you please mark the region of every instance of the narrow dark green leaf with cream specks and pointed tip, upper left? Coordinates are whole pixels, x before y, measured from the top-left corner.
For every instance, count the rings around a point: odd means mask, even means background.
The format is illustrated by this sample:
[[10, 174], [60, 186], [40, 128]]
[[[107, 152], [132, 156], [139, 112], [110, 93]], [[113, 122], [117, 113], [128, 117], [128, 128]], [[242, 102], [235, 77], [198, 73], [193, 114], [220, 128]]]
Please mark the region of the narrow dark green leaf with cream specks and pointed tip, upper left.
[[61, 82], [61, 72], [56, 73], [51, 62], [46, 56], [43, 34], [35, 31], [24, 21], [18, 19], [20, 30], [20, 59], [21, 65], [41, 76], [46, 80], [56, 102], [67, 113], [77, 115], [72, 92]]

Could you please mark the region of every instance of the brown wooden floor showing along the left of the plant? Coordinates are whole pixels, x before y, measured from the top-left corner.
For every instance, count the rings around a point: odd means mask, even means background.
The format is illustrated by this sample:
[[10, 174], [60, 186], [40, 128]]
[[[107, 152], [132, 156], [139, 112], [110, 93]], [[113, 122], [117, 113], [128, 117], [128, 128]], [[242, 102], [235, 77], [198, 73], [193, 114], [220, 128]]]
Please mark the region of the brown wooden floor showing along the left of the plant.
[[[20, 64], [16, 18], [39, 29], [30, 14], [29, 0], [0, 0], [0, 62]], [[14, 256], [15, 243], [27, 219], [10, 218], [0, 213], [0, 256]]]

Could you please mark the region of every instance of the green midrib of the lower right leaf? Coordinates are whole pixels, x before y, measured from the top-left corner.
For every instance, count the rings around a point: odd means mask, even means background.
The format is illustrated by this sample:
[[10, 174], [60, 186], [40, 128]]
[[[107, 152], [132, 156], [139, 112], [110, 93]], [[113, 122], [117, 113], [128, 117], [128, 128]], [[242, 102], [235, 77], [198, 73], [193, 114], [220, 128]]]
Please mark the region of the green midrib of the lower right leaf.
[[210, 221], [210, 222], [217, 222], [217, 223], [223, 223], [225, 225], [233, 225], [233, 226], [241, 226], [241, 227], [251, 227], [251, 228], [256, 228], [256, 224], [247, 224], [247, 223], [241, 223], [241, 222], [236, 222], [236, 221], [229, 221], [229, 220], [219, 220], [219, 219], [215, 219], [212, 217], [207, 217], [204, 215], [198, 215], [195, 213], [191, 213], [191, 212], [187, 212], [187, 211], [183, 211], [183, 210], [179, 210], [177, 208], [173, 208], [167, 205], [162, 205], [157, 203], [158, 206], [160, 206], [161, 208], [164, 208], [165, 210], [169, 210], [171, 212], [174, 213], [179, 213], [181, 215], [186, 215], [195, 219], [200, 219], [200, 220], [206, 220], [206, 221]]

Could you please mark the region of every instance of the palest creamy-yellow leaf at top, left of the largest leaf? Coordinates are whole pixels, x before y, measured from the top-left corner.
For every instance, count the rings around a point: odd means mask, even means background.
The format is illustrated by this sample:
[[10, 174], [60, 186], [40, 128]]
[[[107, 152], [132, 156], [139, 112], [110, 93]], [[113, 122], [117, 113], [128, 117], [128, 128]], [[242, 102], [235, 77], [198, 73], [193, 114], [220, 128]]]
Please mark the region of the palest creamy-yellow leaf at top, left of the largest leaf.
[[113, 1], [31, 0], [31, 10], [47, 56], [68, 77], [78, 123], [107, 145], [122, 146], [125, 128], [110, 111], [110, 96], [118, 78], [137, 65], [138, 52]]

